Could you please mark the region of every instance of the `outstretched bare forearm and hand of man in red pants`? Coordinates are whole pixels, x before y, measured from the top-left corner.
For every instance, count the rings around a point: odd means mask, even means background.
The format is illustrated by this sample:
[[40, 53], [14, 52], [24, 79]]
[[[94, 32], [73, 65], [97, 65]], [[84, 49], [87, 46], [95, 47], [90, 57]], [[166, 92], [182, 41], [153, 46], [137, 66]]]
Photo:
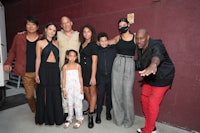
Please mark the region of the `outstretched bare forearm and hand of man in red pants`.
[[160, 64], [160, 58], [158, 56], [154, 56], [151, 59], [151, 64], [144, 70], [139, 71], [140, 76], [149, 76], [150, 74], [156, 74], [157, 66]]

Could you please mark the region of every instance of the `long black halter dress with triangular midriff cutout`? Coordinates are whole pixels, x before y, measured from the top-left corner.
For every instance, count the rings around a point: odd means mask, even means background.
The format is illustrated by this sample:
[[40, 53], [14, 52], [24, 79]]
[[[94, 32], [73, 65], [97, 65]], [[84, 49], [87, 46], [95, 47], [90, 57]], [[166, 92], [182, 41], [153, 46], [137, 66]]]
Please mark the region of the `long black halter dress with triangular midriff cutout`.
[[[56, 62], [46, 62], [50, 52], [53, 52]], [[40, 84], [36, 89], [36, 124], [61, 125], [63, 123], [63, 108], [60, 88], [59, 50], [52, 42], [43, 49], [39, 69]]]

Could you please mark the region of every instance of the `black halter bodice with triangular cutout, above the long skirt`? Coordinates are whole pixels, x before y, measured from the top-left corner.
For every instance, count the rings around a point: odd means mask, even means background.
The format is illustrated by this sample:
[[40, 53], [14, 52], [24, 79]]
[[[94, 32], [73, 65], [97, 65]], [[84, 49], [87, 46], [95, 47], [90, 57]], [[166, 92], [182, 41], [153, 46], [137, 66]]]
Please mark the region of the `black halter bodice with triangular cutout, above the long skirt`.
[[58, 50], [58, 48], [55, 45], [52, 44], [52, 41], [48, 41], [47, 46], [42, 50], [42, 54], [41, 54], [42, 63], [47, 61], [51, 51], [53, 52], [53, 54], [56, 58], [56, 62], [57, 63], [59, 62], [59, 50]]

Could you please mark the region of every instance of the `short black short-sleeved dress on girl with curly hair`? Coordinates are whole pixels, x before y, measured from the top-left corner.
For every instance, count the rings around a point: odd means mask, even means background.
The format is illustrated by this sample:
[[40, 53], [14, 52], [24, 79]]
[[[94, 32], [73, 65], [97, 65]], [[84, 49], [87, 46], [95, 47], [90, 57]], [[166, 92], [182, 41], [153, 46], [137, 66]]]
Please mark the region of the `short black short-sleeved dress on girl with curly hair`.
[[92, 74], [92, 55], [98, 55], [95, 42], [90, 42], [86, 47], [80, 46], [80, 64], [82, 68], [83, 85], [89, 87]]

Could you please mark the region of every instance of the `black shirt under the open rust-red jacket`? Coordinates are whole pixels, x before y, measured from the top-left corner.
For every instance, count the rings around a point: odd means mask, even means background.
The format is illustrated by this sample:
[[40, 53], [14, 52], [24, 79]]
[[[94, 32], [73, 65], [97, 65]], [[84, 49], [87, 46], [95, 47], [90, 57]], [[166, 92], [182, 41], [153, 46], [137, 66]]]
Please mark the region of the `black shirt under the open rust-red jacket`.
[[26, 72], [35, 72], [36, 42], [26, 39]]

